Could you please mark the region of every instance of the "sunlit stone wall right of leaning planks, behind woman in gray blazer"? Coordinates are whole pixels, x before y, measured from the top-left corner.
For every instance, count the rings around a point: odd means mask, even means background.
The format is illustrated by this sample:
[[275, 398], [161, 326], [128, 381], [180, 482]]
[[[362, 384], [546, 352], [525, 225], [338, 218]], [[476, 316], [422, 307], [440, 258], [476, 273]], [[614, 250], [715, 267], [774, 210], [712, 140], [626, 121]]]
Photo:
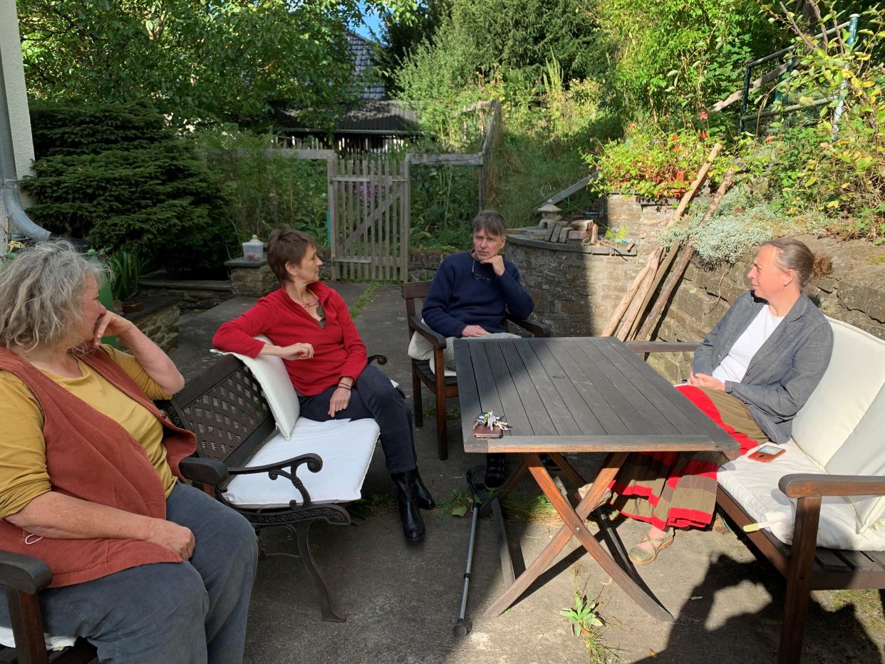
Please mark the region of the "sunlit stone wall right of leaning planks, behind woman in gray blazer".
[[[806, 294], [827, 316], [844, 320], [885, 339], [885, 249], [861, 241], [800, 237], [815, 253], [833, 260], [834, 272], [812, 282]], [[735, 298], [747, 290], [746, 274], [753, 256], [734, 266], [704, 270], [692, 261], [658, 326], [660, 341], [700, 341]], [[650, 364], [676, 382], [688, 375], [690, 354], [651, 355]]]

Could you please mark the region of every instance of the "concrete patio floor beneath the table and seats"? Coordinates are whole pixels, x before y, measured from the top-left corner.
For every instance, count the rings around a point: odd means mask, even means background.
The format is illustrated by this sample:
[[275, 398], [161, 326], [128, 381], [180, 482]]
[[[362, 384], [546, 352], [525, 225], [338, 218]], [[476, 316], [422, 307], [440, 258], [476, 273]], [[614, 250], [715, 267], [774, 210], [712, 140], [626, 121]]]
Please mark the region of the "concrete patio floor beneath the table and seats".
[[[333, 284], [352, 305], [366, 284]], [[235, 298], [181, 324], [173, 359], [187, 378], [212, 363], [208, 353], [218, 325], [242, 313], [252, 300]], [[371, 353], [384, 353], [384, 370], [401, 383], [408, 398], [411, 376], [405, 355], [404, 304], [398, 286], [382, 286], [356, 319]], [[424, 405], [430, 401], [425, 391]], [[432, 402], [431, 402], [432, 405]], [[457, 400], [449, 409], [458, 408]], [[450, 421], [450, 458], [436, 458], [433, 416], [416, 429], [419, 467], [438, 503], [453, 490], [466, 490], [464, 474], [481, 459], [468, 458], [458, 422]], [[574, 459], [592, 475], [595, 455]], [[520, 490], [540, 493], [531, 481]], [[364, 498], [389, 502], [393, 484], [384, 468], [381, 446], [366, 477]], [[589, 555], [566, 553], [510, 611], [491, 619], [483, 610], [504, 590], [496, 534], [481, 521], [473, 567], [467, 637], [452, 636], [458, 614], [469, 519], [424, 513], [427, 537], [405, 543], [396, 509], [381, 509], [348, 527], [320, 523], [312, 529], [315, 558], [347, 622], [319, 619], [312, 583], [300, 561], [272, 557], [258, 565], [252, 595], [247, 658], [255, 663], [289, 662], [589, 662], [580, 638], [572, 636], [559, 612], [573, 605], [577, 587], [600, 602], [605, 624], [599, 630], [610, 648], [609, 661], [767, 662], [776, 660], [785, 584], [773, 567], [758, 561], [734, 535], [713, 531], [681, 532], [653, 565], [640, 569], [645, 583], [675, 616], [655, 622], [627, 598]], [[512, 543], [532, 560], [558, 529], [553, 523], [509, 521]], [[591, 527], [593, 529], [593, 527]], [[625, 543], [642, 537], [633, 521], [618, 525]], [[294, 542], [268, 533], [269, 550], [295, 552]], [[573, 553], [569, 553], [573, 552]], [[805, 662], [885, 661], [883, 597], [876, 591], [815, 592], [805, 633]]]

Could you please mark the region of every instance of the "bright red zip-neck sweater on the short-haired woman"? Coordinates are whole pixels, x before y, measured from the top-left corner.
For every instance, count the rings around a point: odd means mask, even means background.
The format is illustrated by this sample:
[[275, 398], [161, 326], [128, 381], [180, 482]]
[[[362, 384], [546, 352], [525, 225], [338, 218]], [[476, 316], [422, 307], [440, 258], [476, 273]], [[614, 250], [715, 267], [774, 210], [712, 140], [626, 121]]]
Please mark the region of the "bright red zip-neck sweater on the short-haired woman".
[[319, 297], [326, 312], [325, 328], [280, 288], [222, 325], [212, 337], [212, 345], [254, 358], [265, 345], [252, 338], [256, 335], [265, 335], [275, 346], [311, 344], [311, 359], [283, 360], [295, 389], [308, 396], [327, 390], [342, 376], [356, 380], [366, 368], [366, 344], [359, 338], [347, 305], [323, 282], [312, 283], [308, 289]]

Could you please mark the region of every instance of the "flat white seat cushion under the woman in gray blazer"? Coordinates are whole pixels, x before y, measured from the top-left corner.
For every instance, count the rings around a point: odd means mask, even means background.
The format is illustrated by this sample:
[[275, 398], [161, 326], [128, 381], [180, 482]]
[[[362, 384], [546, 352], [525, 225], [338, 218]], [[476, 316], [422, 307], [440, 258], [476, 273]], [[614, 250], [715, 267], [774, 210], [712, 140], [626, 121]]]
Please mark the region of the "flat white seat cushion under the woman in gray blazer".
[[[751, 461], [744, 455], [720, 466], [718, 480], [723, 489], [735, 498], [750, 518], [768, 523], [773, 536], [785, 544], [793, 540], [796, 500], [787, 498], [777, 483], [783, 475], [821, 473], [820, 466], [798, 445], [783, 445], [786, 452], [771, 463]], [[748, 452], [749, 453], [749, 452]], [[820, 508], [818, 545], [830, 549], [854, 551], [885, 551], [885, 529], [866, 529], [858, 533], [854, 509], [840, 497], [823, 498]]]

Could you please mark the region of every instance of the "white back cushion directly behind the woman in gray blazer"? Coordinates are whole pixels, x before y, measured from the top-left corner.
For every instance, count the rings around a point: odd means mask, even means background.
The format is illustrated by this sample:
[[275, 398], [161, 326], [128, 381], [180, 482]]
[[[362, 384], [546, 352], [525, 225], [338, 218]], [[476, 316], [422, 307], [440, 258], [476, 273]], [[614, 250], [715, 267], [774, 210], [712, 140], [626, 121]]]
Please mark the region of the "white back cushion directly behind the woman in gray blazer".
[[885, 341], [841, 320], [827, 320], [833, 357], [793, 421], [793, 440], [821, 467], [858, 426], [885, 382]]

